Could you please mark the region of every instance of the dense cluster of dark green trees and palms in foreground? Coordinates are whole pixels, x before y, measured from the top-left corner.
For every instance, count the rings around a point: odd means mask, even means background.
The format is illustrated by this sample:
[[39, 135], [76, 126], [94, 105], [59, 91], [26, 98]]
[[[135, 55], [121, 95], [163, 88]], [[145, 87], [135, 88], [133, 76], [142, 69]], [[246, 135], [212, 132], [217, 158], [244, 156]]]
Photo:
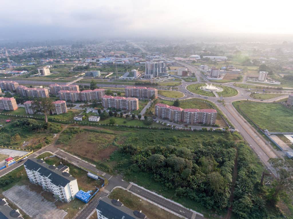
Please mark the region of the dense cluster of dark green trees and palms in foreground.
[[[176, 142], [177, 137], [173, 138]], [[123, 145], [120, 150], [131, 156], [132, 169], [152, 173], [155, 181], [173, 189], [176, 196], [195, 200], [207, 209], [228, 206], [236, 158], [233, 141], [220, 137], [190, 148]]]

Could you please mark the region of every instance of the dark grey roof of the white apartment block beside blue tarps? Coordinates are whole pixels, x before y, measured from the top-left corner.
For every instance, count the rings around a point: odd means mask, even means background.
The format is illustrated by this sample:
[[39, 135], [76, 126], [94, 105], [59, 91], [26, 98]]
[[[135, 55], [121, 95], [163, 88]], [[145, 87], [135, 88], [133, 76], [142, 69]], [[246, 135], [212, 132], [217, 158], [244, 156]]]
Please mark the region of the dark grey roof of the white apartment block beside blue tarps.
[[65, 187], [68, 183], [76, 178], [72, 177], [68, 173], [63, 173], [62, 171], [52, 169], [49, 167], [49, 164], [46, 164], [45, 161], [36, 158], [27, 159], [24, 163], [25, 168], [30, 171], [37, 171], [40, 175], [45, 176], [51, 180], [51, 183], [56, 186]]

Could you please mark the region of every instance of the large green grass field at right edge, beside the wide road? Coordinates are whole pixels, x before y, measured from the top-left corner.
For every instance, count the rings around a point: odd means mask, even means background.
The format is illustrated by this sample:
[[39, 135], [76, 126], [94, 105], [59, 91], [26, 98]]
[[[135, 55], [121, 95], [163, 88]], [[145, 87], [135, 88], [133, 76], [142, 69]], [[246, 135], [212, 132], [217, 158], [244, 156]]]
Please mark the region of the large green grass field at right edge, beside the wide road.
[[240, 109], [262, 129], [271, 132], [293, 130], [293, 110], [279, 103], [236, 101], [233, 105], [236, 108], [239, 105]]

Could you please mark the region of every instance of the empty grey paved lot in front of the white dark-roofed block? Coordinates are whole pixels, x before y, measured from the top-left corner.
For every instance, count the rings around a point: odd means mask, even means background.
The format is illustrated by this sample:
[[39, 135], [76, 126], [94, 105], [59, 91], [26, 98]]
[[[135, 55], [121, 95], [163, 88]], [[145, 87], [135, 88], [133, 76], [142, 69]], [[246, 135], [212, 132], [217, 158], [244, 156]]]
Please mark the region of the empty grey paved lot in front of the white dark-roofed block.
[[3, 194], [31, 218], [52, 219], [64, 218], [67, 215], [66, 211], [57, 208], [41, 194], [31, 191], [27, 185], [13, 186]]

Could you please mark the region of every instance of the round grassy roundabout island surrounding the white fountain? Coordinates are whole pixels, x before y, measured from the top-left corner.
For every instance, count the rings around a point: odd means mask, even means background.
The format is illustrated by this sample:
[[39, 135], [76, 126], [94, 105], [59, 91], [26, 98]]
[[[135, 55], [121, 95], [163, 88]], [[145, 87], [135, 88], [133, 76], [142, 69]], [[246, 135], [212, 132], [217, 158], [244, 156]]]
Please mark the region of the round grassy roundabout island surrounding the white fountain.
[[[212, 90], [207, 91], [207, 89], [205, 89], [207, 86], [208, 84], [190, 84], [187, 86], [187, 90], [199, 95], [214, 97], [215, 95], [212, 92]], [[233, 97], [238, 94], [238, 91], [231, 87], [217, 85], [217, 84], [215, 85], [215, 87], [217, 87], [218, 89], [217, 91], [214, 91], [214, 92], [216, 92], [219, 96], [222, 96], [222, 97]]]

